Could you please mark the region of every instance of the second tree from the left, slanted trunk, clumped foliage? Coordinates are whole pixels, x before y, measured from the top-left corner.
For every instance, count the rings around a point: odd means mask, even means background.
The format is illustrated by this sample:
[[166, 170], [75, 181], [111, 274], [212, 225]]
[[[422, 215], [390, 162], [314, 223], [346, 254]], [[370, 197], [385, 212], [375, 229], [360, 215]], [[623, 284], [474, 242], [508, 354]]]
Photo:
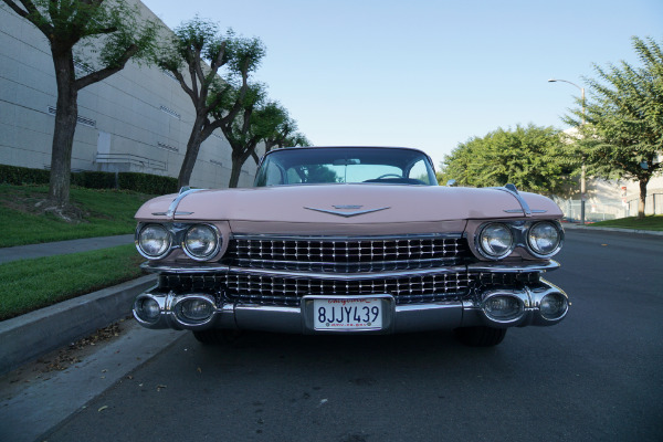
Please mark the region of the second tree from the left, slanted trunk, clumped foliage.
[[[202, 141], [242, 109], [249, 74], [264, 53], [259, 39], [238, 38], [232, 30], [222, 34], [215, 23], [196, 17], [175, 30], [172, 41], [157, 56], [158, 65], [175, 75], [196, 109], [178, 177], [180, 187], [189, 185]], [[222, 67], [224, 78], [219, 74]], [[218, 118], [212, 120], [212, 114]]]

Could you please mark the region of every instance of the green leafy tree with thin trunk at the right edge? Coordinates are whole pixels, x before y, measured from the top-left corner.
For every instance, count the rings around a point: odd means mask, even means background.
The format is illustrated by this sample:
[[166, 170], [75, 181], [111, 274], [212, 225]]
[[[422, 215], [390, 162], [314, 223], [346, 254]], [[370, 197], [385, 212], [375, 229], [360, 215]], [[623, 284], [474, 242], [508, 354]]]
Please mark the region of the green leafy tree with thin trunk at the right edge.
[[[598, 78], [585, 78], [590, 91], [585, 110], [572, 109], [565, 122], [579, 127], [576, 145], [593, 175], [639, 181], [642, 219], [646, 186], [663, 167], [657, 161], [663, 152], [663, 52], [653, 39], [632, 41], [643, 65], [594, 65]], [[587, 124], [580, 124], [582, 118]]]

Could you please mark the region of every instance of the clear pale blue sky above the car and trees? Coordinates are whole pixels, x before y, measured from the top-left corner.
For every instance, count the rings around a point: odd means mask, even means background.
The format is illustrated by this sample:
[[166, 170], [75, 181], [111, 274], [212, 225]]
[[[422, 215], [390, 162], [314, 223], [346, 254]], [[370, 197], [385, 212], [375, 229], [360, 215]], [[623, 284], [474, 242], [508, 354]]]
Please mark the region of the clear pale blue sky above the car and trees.
[[[663, 44], [663, 0], [143, 0], [169, 28], [197, 14], [257, 36], [252, 80], [316, 146], [407, 146], [435, 167], [517, 125], [567, 128], [594, 65]], [[588, 91], [589, 92], [589, 91]]]

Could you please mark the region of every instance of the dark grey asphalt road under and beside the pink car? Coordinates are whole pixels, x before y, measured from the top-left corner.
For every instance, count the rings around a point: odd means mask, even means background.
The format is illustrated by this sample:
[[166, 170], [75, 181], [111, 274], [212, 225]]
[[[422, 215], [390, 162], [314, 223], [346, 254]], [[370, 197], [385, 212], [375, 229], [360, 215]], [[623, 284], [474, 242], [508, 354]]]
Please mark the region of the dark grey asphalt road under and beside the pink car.
[[450, 333], [183, 334], [44, 440], [663, 441], [663, 238], [568, 231], [555, 327], [490, 349]]

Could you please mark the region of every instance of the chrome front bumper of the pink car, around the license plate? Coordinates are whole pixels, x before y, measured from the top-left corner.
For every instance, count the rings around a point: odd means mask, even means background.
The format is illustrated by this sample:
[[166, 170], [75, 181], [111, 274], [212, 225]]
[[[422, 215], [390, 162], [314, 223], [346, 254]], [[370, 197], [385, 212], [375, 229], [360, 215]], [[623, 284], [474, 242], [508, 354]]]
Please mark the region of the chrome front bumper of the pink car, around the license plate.
[[[293, 333], [293, 334], [323, 334], [339, 333], [336, 330], [315, 330], [312, 326], [313, 299], [315, 296], [302, 298], [301, 306], [270, 306], [244, 303], [221, 303], [212, 295], [206, 293], [159, 293], [151, 291], [140, 294], [134, 304], [134, 316], [143, 326], [148, 328], [175, 328], [189, 330], [204, 330], [209, 328], [249, 329], [262, 332]], [[491, 327], [523, 327], [527, 325], [548, 326], [559, 323], [568, 312], [568, 297], [557, 286], [541, 280], [535, 286], [520, 288], [486, 288], [475, 293], [473, 298], [478, 301], [438, 302], [430, 304], [396, 305], [390, 295], [375, 295], [382, 297], [388, 306], [388, 320], [378, 333], [408, 333], [427, 332], [436, 329], [451, 329], [471, 326]], [[541, 314], [541, 301], [548, 296], [564, 299], [566, 307], [555, 318], [546, 318]], [[487, 299], [504, 296], [518, 299], [520, 313], [508, 320], [491, 317], [487, 312]], [[204, 320], [191, 322], [181, 314], [185, 301], [198, 298], [209, 303], [211, 312]], [[152, 320], [145, 320], [139, 309], [143, 302], [154, 299], [158, 306], [158, 315]], [[348, 333], [348, 332], [343, 332]], [[352, 330], [350, 333], [369, 333]], [[372, 330], [372, 333], [376, 333]]]

